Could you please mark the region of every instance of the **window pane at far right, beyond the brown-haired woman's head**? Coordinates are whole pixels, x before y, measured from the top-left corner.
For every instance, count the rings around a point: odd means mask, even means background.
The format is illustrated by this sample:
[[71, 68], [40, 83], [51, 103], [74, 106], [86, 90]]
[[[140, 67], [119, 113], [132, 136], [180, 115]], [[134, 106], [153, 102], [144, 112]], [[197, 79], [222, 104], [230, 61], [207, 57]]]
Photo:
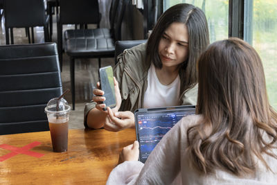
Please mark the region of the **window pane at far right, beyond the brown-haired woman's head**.
[[277, 109], [277, 1], [248, 0], [244, 2], [244, 40], [262, 59], [269, 102]]

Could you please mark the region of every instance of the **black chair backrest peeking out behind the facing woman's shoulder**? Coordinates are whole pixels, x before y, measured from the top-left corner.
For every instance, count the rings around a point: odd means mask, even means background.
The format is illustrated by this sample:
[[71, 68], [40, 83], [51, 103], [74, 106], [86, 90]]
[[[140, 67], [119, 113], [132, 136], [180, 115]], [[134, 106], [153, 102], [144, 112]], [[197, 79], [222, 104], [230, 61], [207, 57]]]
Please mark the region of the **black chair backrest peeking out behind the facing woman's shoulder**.
[[116, 49], [115, 49], [115, 53], [114, 53], [114, 60], [115, 60], [115, 64], [117, 63], [117, 56], [120, 53], [123, 53], [123, 51], [125, 49], [130, 49], [134, 46], [137, 46], [139, 44], [143, 44], [146, 43], [147, 39], [136, 39], [136, 40], [118, 40], [116, 42]]

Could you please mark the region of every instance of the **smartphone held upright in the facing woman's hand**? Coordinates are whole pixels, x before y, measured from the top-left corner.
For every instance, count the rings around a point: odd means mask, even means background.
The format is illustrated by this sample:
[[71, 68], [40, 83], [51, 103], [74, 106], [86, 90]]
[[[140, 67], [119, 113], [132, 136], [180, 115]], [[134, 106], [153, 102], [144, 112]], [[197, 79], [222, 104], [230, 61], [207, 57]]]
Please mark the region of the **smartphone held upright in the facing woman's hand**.
[[107, 110], [107, 107], [116, 107], [116, 93], [114, 90], [114, 73], [111, 66], [101, 67], [99, 69], [99, 81], [100, 89], [105, 92], [104, 96], [106, 100], [106, 107], [103, 110]]

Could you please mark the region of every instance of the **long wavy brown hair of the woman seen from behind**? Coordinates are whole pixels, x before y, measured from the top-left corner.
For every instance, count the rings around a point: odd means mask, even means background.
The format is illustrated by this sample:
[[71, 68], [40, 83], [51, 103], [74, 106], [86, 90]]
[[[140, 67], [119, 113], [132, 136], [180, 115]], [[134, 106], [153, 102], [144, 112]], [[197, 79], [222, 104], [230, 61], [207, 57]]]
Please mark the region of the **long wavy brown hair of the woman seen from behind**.
[[[200, 56], [197, 114], [188, 129], [188, 153], [201, 172], [215, 168], [254, 173], [258, 157], [276, 148], [277, 114], [269, 105], [258, 53], [241, 39], [215, 42]], [[268, 138], [268, 139], [267, 139]]]

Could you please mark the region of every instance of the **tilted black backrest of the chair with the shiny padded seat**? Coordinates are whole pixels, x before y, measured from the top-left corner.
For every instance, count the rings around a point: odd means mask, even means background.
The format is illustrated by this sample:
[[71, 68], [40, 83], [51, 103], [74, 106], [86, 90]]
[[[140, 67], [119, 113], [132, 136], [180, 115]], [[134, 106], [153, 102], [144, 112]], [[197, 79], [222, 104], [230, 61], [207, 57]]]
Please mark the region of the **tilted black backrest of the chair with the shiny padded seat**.
[[114, 24], [111, 26], [111, 35], [114, 37], [115, 41], [121, 39], [121, 24], [123, 21], [123, 16], [125, 13], [127, 1], [129, 0], [119, 0], [116, 10], [116, 15], [114, 17]]

